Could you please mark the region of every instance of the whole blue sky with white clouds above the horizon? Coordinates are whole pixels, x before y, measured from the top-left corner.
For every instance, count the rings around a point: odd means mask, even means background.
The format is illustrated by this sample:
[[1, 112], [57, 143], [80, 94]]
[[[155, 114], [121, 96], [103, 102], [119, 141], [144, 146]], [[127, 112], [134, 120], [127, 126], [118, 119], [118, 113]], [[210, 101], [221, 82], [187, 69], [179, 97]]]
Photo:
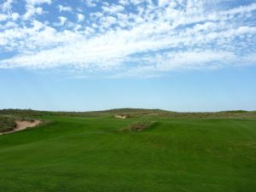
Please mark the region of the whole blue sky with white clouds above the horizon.
[[255, 0], [0, 0], [0, 108], [256, 110]]

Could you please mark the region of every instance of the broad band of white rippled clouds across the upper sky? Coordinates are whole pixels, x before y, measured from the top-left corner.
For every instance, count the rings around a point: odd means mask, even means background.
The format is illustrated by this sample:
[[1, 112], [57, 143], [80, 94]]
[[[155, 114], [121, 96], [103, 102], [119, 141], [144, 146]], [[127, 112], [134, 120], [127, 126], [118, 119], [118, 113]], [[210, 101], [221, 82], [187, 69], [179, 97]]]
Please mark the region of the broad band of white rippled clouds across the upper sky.
[[2, 8], [0, 50], [15, 54], [0, 60], [0, 68], [141, 76], [256, 64], [256, 3], [209, 9], [203, 0], [82, 1], [98, 9], [88, 16], [73, 11], [73, 20], [59, 15], [56, 25], [32, 16], [47, 18], [50, 13], [38, 5], [54, 6], [51, 1], [29, 2], [25, 15]]

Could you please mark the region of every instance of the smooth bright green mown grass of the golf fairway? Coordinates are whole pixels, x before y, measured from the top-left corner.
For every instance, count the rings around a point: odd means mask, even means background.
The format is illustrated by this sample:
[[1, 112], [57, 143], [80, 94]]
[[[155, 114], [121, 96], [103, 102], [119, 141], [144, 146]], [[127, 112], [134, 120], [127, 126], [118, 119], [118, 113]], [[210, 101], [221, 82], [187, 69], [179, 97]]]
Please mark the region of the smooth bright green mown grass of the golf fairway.
[[[40, 116], [0, 136], [2, 192], [253, 192], [256, 119]], [[120, 131], [138, 121], [143, 131]]]

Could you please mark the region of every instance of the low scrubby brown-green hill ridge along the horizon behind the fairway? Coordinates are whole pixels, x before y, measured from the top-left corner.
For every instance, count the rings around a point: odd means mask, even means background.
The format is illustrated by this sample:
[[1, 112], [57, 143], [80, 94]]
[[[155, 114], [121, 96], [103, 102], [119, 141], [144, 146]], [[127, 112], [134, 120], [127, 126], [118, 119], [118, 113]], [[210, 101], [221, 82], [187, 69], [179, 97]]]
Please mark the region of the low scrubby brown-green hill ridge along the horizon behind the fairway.
[[248, 118], [256, 117], [256, 111], [223, 111], [223, 112], [172, 112], [161, 109], [144, 108], [116, 108], [104, 111], [92, 112], [58, 112], [58, 111], [38, 111], [32, 109], [2, 109], [0, 115], [13, 115], [21, 117], [32, 116], [78, 116], [78, 117], [99, 117], [102, 115], [129, 114], [131, 117], [138, 116], [161, 116], [169, 118]]

